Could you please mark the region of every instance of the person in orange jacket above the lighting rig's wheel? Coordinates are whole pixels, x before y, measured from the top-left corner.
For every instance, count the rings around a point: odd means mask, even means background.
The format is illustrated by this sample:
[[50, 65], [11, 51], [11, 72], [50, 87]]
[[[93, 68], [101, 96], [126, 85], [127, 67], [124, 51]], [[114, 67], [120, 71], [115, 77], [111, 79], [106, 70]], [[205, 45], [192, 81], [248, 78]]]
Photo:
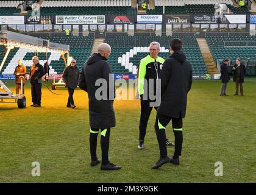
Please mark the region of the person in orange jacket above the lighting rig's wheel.
[[16, 94], [19, 94], [19, 90], [21, 88], [21, 77], [23, 77], [23, 91], [21, 91], [21, 94], [25, 94], [24, 85], [26, 83], [27, 69], [26, 66], [23, 65], [21, 60], [18, 60], [18, 66], [16, 66], [13, 74], [15, 74]]

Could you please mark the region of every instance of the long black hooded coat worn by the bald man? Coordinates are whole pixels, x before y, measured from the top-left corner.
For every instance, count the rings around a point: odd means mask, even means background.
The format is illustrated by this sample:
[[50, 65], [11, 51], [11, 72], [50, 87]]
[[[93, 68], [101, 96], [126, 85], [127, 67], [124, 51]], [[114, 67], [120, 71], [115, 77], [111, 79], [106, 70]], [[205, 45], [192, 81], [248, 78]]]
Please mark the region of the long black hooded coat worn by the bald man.
[[[79, 78], [83, 80], [84, 87], [80, 87], [87, 91], [89, 98], [89, 114], [90, 127], [96, 129], [107, 129], [116, 126], [115, 112], [113, 108], [113, 100], [115, 98], [115, 84], [113, 77], [110, 76], [112, 71], [108, 65], [107, 59], [101, 54], [93, 54], [84, 63], [84, 67]], [[96, 80], [104, 79], [107, 85], [96, 86]], [[99, 80], [98, 80], [99, 81]], [[104, 99], [96, 99], [96, 91], [107, 91], [102, 93]]]

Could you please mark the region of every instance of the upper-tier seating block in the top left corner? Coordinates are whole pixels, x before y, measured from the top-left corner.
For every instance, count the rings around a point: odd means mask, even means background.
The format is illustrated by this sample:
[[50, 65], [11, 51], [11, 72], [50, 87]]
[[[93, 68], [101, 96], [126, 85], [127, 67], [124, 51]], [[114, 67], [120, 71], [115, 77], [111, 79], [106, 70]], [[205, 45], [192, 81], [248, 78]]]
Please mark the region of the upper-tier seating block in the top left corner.
[[0, 15], [19, 15], [21, 10], [16, 9], [23, 1], [0, 1]]

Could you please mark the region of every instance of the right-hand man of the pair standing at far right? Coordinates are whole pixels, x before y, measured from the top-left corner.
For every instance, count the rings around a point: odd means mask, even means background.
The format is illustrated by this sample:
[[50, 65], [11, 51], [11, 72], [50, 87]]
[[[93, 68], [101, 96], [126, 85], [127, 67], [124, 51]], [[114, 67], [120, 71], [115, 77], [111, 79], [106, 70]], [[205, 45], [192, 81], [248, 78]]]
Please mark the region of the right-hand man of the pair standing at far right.
[[235, 96], [238, 96], [238, 87], [240, 86], [240, 94], [241, 96], [244, 95], [244, 75], [246, 74], [246, 68], [244, 65], [241, 64], [240, 59], [236, 59], [236, 64], [233, 66], [233, 82], [235, 82]]

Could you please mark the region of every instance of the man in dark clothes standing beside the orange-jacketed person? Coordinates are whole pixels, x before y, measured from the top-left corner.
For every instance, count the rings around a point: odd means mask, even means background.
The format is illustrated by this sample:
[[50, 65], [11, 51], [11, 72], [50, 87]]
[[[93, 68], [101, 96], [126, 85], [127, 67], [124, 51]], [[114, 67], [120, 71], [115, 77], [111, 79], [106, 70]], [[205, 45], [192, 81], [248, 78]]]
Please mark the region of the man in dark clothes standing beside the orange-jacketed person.
[[42, 88], [42, 77], [44, 76], [43, 66], [40, 65], [39, 59], [37, 56], [34, 56], [33, 65], [30, 68], [29, 80], [31, 83], [31, 94], [32, 102], [30, 105], [32, 107], [41, 107], [41, 88]]

